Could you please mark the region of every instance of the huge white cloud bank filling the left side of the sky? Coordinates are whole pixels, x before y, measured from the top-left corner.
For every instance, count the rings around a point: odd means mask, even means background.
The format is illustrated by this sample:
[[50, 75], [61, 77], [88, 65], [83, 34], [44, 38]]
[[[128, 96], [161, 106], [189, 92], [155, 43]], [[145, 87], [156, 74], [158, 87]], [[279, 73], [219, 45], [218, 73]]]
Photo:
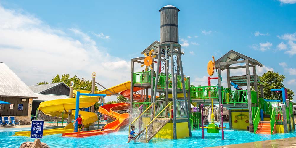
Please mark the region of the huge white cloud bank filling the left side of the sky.
[[79, 29], [54, 29], [36, 17], [1, 5], [0, 16], [1, 62], [27, 85], [51, 82], [56, 74], [64, 73], [90, 80], [94, 71], [105, 87], [129, 80], [130, 64], [110, 56]]

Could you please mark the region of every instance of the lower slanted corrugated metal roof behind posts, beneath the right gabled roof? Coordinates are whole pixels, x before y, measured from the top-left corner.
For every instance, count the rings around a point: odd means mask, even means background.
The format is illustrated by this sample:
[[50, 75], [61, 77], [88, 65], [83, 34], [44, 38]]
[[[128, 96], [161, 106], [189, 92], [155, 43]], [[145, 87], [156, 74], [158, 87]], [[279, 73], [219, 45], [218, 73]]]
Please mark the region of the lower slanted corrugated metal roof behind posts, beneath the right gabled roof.
[[[247, 86], [246, 75], [232, 76], [230, 77], [230, 81], [237, 84], [238, 86]], [[254, 86], [254, 75], [250, 75], [250, 83], [251, 83], [251, 86]], [[257, 84], [263, 85], [263, 82], [261, 82], [258, 75], [257, 75]]]

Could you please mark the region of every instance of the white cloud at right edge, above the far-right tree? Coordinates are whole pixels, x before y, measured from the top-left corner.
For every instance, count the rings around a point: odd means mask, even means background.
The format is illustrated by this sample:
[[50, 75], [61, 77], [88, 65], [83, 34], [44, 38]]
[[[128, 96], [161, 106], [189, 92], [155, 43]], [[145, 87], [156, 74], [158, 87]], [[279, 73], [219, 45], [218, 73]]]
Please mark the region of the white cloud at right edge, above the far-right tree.
[[[285, 33], [284, 35], [278, 36], [278, 38], [288, 41], [289, 49], [285, 51], [286, 54], [289, 54], [290, 56], [293, 56], [296, 54], [296, 44], [294, 43], [294, 41], [296, 41], [296, 33], [293, 33], [293, 34]], [[287, 49], [287, 45], [284, 46], [283, 48], [285, 47]]]

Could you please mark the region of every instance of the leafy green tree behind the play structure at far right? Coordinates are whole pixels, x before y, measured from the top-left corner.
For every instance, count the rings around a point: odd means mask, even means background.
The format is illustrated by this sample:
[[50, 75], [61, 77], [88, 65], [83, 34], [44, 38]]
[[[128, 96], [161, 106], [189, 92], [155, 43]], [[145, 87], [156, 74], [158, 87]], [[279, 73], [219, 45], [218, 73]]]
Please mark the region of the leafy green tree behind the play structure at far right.
[[[271, 94], [271, 89], [280, 89], [284, 87], [284, 80], [286, 79], [286, 76], [280, 75], [279, 73], [275, 73], [273, 71], [268, 71], [260, 77], [260, 80], [264, 83], [263, 86], [263, 93], [264, 93], [264, 98], [265, 99], [277, 99], [277, 98], [272, 98]], [[252, 87], [254, 90], [254, 87]], [[288, 94], [288, 99], [293, 100], [293, 96], [295, 95], [294, 91], [292, 91], [289, 88], [287, 89], [287, 94]], [[258, 96], [260, 96], [261, 90], [260, 86], [258, 86]], [[280, 98], [281, 99], [281, 98]]]

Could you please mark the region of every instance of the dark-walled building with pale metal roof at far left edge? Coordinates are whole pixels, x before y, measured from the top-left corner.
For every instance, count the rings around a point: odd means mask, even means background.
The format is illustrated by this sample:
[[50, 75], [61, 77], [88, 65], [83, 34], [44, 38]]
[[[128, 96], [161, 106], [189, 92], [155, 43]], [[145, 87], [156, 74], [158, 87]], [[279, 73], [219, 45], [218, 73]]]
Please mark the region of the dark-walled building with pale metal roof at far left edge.
[[15, 116], [21, 123], [29, 123], [33, 98], [38, 96], [3, 62], [0, 62], [0, 100], [2, 116]]

